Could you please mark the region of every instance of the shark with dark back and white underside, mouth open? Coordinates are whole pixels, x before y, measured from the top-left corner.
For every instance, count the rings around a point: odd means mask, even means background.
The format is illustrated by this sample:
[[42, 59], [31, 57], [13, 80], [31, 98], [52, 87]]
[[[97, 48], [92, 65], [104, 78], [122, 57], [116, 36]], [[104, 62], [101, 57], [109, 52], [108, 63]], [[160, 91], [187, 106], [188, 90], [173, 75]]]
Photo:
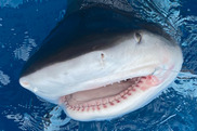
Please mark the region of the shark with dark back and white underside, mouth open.
[[[93, 17], [89, 12], [66, 16], [28, 60], [19, 83], [58, 104], [73, 119], [113, 119], [145, 106], [167, 89], [181, 70], [182, 51], [160, 31], [130, 28], [123, 23], [128, 16], [118, 19], [122, 14], [105, 10], [105, 15]], [[106, 17], [113, 19], [109, 28], [104, 26]]]

